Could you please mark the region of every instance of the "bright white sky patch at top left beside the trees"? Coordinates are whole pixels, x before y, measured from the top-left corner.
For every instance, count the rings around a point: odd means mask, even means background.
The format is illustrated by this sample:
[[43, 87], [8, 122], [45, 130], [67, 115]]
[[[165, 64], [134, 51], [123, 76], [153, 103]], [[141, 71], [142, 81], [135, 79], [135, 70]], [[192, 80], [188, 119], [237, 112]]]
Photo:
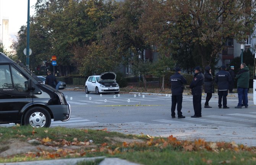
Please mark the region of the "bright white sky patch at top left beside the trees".
[[[30, 16], [34, 14], [34, 7], [37, 0], [30, 0]], [[0, 40], [2, 40], [2, 19], [9, 20], [8, 33], [9, 41], [16, 40], [15, 35], [21, 26], [27, 25], [28, 0], [0, 0]], [[8, 43], [9, 45], [11, 43]]]

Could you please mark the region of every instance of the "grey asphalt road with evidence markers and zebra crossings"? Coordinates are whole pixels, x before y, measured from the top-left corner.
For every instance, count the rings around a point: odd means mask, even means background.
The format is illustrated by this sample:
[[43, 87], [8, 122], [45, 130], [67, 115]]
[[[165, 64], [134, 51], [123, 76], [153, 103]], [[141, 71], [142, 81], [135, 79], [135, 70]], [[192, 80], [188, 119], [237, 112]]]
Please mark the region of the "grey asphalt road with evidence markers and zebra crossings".
[[[183, 96], [185, 119], [171, 118], [171, 95], [138, 94], [86, 94], [84, 91], [62, 91], [71, 104], [71, 118], [68, 122], [53, 122], [51, 127], [86, 127], [90, 124], [172, 124], [228, 127], [256, 127], [256, 106], [249, 101], [247, 109], [235, 109], [238, 100], [228, 97], [230, 109], [219, 109], [218, 98], [212, 97], [209, 105], [202, 106], [202, 117], [194, 115], [192, 96]], [[204, 105], [205, 98], [202, 99]]]

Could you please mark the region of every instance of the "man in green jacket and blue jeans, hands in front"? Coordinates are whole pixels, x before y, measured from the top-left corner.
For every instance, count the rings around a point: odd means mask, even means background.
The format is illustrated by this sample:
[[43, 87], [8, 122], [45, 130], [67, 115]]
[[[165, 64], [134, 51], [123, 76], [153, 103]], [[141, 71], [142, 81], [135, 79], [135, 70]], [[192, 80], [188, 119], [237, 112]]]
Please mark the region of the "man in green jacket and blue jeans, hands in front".
[[245, 108], [248, 108], [248, 88], [249, 88], [249, 68], [245, 63], [241, 64], [241, 70], [239, 70], [237, 78], [237, 93], [238, 93], [238, 105], [235, 108], [242, 108], [242, 103]]

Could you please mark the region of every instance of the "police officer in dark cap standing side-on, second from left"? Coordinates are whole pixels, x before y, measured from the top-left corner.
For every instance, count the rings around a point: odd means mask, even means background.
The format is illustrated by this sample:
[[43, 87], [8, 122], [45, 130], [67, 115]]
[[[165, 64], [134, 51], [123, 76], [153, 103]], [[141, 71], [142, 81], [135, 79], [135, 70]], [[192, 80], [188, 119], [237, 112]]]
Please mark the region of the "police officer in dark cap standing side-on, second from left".
[[201, 72], [199, 66], [194, 69], [194, 78], [190, 84], [190, 89], [193, 95], [193, 107], [194, 107], [194, 115], [191, 117], [202, 117], [202, 91], [204, 84], [204, 75]]

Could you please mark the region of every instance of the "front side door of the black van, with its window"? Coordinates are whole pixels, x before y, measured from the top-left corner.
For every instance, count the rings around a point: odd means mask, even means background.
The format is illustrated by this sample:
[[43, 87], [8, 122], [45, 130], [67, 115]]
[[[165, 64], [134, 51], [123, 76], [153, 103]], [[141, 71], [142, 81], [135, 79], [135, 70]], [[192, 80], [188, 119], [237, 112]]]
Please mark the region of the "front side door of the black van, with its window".
[[14, 66], [0, 64], [0, 123], [19, 121], [20, 110], [31, 101], [28, 79]]

